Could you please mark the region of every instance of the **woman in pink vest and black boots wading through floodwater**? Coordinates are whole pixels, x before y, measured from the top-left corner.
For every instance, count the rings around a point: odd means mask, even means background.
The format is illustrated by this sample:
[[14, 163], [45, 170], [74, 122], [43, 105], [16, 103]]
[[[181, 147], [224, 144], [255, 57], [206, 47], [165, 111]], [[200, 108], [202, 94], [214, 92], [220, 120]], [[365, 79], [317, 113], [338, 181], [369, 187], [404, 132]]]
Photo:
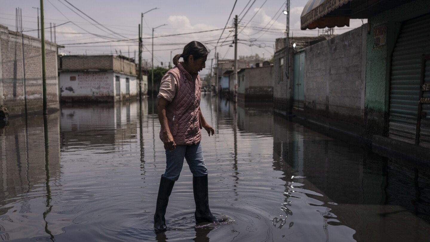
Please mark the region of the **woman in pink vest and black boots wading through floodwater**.
[[[208, 171], [200, 144], [204, 128], [209, 136], [215, 130], [206, 123], [200, 110], [202, 84], [199, 71], [205, 68], [209, 54], [202, 43], [191, 41], [182, 52], [173, 58], [174, 68], [167, 71], [161, 80], [158, 93], [158, 118], [160, 119], [160, 139], [166, 149], [166, 171], [161, 176], [158, 189], [157, 208], [154, 214], [154, 228], [166, 231], [166, 214], [169, 196], [184, 164], [184, 158], [193, 173], [196, 222], [223, 222], [227, 218], [216, 218], [209, 209]], [[179, 58], [184, 62], [179, 62]]]

